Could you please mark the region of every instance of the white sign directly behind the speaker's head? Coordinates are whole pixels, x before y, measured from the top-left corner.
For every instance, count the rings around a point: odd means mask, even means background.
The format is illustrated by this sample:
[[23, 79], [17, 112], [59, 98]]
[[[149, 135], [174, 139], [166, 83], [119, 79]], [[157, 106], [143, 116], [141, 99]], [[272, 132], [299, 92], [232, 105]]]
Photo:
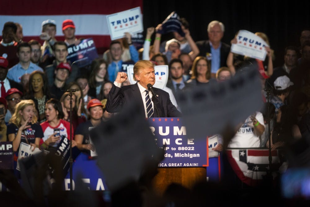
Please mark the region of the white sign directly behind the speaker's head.
[[[155, 84], [153, 87], [163, 89], [166, 87], [169, 75], [168, 65], [156, 65], [154, 67], [155, 70]], [[135, 84], [136, 81], [133, 79], [134, 75], [134, 66], [127, 66], [127, 77], [131, 84]]]

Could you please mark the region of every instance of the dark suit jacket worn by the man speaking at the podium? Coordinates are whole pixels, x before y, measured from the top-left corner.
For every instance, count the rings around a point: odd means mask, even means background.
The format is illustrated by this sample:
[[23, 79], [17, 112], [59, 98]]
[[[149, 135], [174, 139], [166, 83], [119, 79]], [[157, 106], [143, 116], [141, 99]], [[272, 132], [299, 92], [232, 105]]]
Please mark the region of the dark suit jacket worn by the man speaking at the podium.
[[[159, 88], [154, 88], [154, 92], [158, 95], [158, 103], [156, 104], [159, 112], [159, 117], [180, 117], [181, 113], [171, 103], [169, 94]], [[119, 112], [122, 107], [129, 105], [131, 102], [137, 101], [141, 113], [145, 115], [142, 96], [138, 87], [138, 83], [133, 85], [123, 86], [122, 88], [116, 87], [114, 84], [108, 95], [108, 100], [105, 105], [107, 112]], [[154, 117], [157, 114], [154, 109]]]

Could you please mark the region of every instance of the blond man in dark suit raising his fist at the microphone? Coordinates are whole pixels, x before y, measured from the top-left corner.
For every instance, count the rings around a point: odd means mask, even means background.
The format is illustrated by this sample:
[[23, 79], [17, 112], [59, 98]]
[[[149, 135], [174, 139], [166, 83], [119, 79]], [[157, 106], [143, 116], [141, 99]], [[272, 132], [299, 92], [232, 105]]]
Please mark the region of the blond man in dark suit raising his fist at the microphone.
[[[155, 84], [154, 64], [151, 61], [141, 60], [134, 66], [133, 85], [121, 85], [127, 79], [125, 72], [118, 72], [115, 82], [108, 94], [106, 111], [109, 113], [119, 112], [122, 107], [136, 101], [141, 109], [141, 113], [146, 118], [150, 117], [180, 117], [181, 113], [171, 103], [169, 94], [159, 88], [153, 88], [156, 93], [155, 101], [151, 101], [153, 94], [148, 90], [147, 85]], [[156, 112], [158, 109], [158, 114]]]

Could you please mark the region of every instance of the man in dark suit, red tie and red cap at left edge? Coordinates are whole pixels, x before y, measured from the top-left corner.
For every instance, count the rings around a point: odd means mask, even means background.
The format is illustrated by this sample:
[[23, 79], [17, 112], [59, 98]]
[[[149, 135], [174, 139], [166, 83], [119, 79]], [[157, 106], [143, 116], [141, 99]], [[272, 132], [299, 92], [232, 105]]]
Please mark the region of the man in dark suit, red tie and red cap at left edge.
[[8, 64], [6, 58], [0, 57], [0, 97], [6, 97], [6, 93], [10, 88], [23, 91], [21, 84], [7, 78]]

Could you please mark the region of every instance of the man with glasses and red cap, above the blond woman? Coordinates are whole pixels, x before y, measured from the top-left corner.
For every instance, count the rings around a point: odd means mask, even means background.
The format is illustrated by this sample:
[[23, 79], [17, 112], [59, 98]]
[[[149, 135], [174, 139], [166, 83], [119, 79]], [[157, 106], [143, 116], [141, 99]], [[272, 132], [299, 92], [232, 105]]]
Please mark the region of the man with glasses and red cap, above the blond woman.
[[22, 95], [23, 93], [20, 92], [20, 90], [18, 90], [17, 88], [10, 88], [7, 91], [6, 100], [7, 100], [8, 110], [7, 110], [7, 114], [4, 117], [4, 121], [6, 123], [8, 123], [9, 120], [11, 119], [12, 114], [15, 112], [15, 106], [21, 101]]

